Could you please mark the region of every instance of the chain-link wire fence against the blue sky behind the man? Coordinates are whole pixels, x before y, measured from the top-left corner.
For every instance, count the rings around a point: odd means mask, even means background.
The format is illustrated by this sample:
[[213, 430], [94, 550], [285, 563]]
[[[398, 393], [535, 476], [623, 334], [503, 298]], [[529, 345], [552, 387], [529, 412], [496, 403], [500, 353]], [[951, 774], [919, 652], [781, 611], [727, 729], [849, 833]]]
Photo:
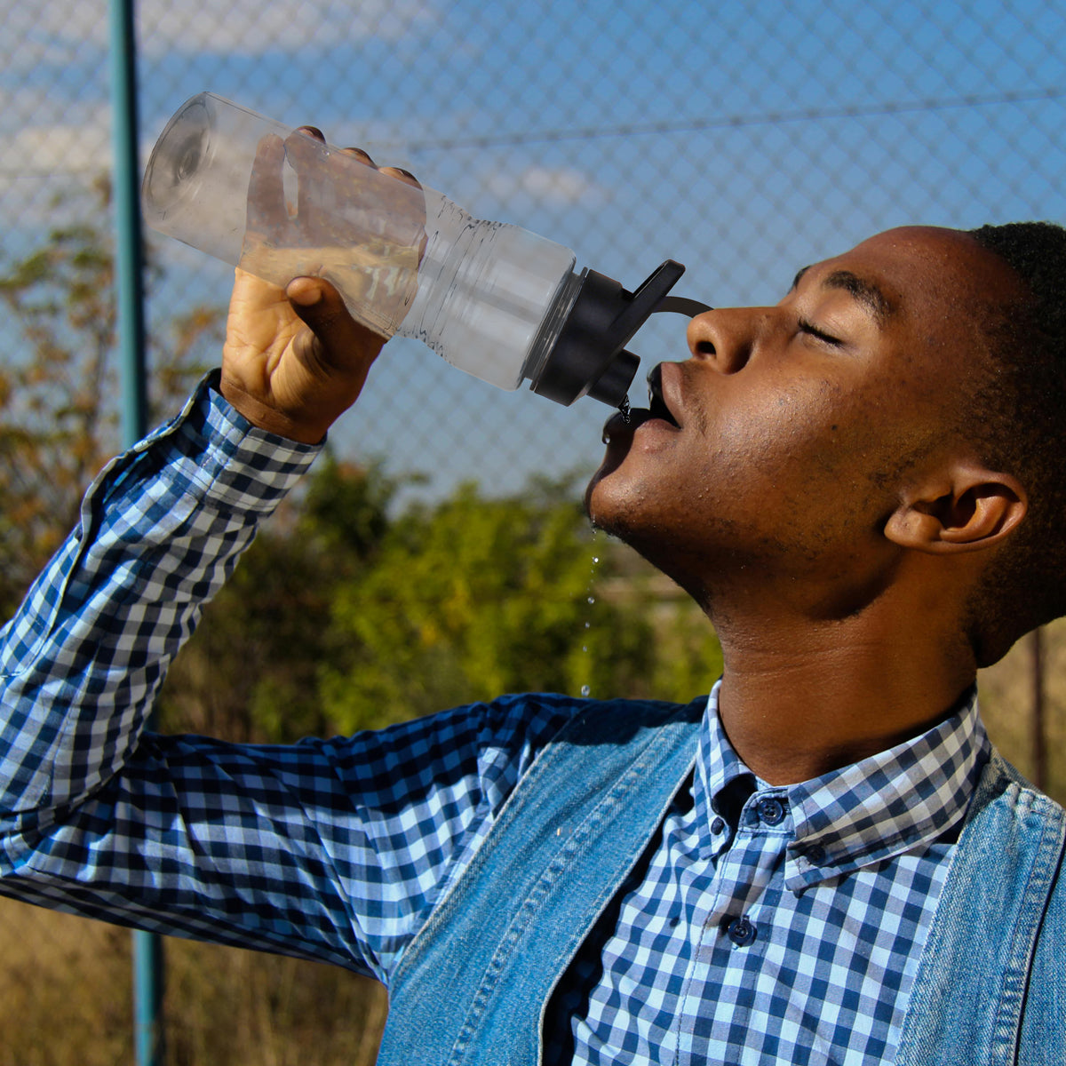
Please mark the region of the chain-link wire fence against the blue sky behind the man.
[[[108, 18], [104, 0], [0, 0], [0, 12], [10, 277], [58, 227], [110, 226]], [[361, 145], [627, 288], [677, 259], [688, 272], [675, 292], [712, 305], [775, 302], [801, 265], [898, 224], [1066, 221], [1066, 10], [1053, 2], [144, 0], [138, 41], [145, 151], [209, 88]], [[158, 360], [177, 320], [224, 306], [230, 271], [151, 244]], [[7, 343], [0, 367], [25, 362], [16, 329]], [[197, 343], [188, 357], [210, 365], [210, 332]], [[658, 317], [630, 346], [645, 368], [683, 357], [683, 322]], [[591, 470], [607, 414], [591, 400], [563, 408], [498, 391], [397, 341], [334, 447], [424, 473], [406, 491], [426, 499], [467, 480], [512, 494], [531, 475]], [[998, 678], [989, 713], [1025, 768], [1023, 685]], [[1048, 699], [1057, 734], [1053, 687]], [[127, 1060], [124, 940], [14, 904], [0, 909], [0, 939], [19, 948], [5, 948], [0, 976], [16, 1012], [3, 1019], [0, 1066]], [[172, 954], [173, 1061], [372, 1061], [384, 1003], [361, 982], [288, 963], [268, 978], [273, 960], [196, 951]], [[88, 986], [103, 1006], [79, 1000]], [[330, 1032], [302, 1028], [310, 994], [330, 1001]], [[253, 1006], [237, 1005], [249, 996]], [[239, 1030], [237, 1050], [205, 1036], [211, 1024]], [[25, 1046], [9, 1039], [26, 1030]]]

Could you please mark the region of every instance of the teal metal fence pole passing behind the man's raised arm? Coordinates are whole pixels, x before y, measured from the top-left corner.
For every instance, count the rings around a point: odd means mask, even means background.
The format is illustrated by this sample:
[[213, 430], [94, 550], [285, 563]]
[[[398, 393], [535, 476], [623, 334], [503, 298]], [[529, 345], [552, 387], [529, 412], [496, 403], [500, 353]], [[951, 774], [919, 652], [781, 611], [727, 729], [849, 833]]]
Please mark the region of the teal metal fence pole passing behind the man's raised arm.
[[[111, 0], [111, 70], [115, 297], [123, 445], [128, 448], [140, 440], [148, 427], [133, 0]], [[156, 933], [134, 932], [133, 1035], [138, 1066], [162, 1066], [162, 939]]]

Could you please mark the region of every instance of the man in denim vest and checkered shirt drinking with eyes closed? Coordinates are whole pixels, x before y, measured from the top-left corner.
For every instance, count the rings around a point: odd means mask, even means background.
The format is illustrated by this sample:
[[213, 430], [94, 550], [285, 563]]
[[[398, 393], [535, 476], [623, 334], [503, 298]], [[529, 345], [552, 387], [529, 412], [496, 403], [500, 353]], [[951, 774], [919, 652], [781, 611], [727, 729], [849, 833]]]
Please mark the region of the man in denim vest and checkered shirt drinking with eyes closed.
[[382, 345], [325, 282], [239, 273], [214, 387], [101, 475], [3, 633], [0, 888], [373, 973], [383, 1062], [1066, 1061], [1062, 811], [973, 691], [1063, 610], [1064, 245], [879, 235], [694, 319], [609, 423], [588, 513], [713, 621], [709, 699], [291, 748], [141, 732]]

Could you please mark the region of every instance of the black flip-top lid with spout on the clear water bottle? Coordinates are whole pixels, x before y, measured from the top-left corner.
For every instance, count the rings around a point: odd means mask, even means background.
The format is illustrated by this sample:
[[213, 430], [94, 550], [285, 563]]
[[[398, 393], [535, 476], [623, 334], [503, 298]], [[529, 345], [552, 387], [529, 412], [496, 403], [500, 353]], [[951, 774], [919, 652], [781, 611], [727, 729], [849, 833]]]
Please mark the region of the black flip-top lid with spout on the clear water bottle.
[[630, 338], [656, 311], [698, 314], [708, 310], [694, 300], [667, 296], [684, 268], [667, 259], [635, 292], [614, 278], [585, 270], [555, 346], [530, 386], [555, 403], [569, 406], [591, 395], [612, 407], [626, 398], [640, 358], [626, 351]]

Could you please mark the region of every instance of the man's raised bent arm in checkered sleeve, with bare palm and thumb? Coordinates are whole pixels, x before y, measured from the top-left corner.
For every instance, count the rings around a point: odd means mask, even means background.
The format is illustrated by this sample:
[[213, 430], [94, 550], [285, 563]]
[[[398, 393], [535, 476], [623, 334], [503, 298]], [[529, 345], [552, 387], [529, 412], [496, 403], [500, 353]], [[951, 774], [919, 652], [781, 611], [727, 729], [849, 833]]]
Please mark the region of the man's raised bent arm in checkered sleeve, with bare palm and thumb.
[[203, 388], [98, 479], [0, 633], [0, 892], [385, 978], [572, 701], [292, 747], [143, 731], [203, 605], [316, 453], [300, 439], [381, 348], [324, 282], [293, 289], [321, 298], [294, 308], [238, 275], [219, 384], [297, 439]]

